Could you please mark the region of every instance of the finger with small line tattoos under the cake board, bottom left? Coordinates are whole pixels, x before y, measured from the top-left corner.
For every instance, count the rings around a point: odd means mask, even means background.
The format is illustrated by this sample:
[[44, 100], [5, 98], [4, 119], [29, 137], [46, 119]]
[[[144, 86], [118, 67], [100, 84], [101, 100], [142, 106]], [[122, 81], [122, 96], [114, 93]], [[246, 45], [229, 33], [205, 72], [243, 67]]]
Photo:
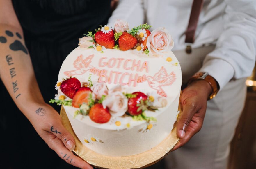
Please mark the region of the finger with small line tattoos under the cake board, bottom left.
[[61, 157], [61, 159], [63, 159], [67, 163], [79, 168], [93, 169], [93, 167], [90, 166], [88, 163], [74, 155], [73, 152], [70, 152], [63, 145], [62, 141], [58, 137], [54, 136], [54, 138], [49, 138], [47, 139], [46, 143], [52, 150], [54, 150], [58, 154], [59, 157]]

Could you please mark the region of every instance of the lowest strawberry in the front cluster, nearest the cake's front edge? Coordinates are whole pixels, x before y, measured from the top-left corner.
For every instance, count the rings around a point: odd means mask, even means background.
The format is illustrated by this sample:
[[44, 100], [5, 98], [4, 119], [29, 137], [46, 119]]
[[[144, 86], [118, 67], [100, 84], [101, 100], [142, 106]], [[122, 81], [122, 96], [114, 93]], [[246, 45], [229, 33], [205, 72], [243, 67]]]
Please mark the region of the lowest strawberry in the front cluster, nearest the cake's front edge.
[[106, 123], [110, 120], [110, 113], [108, 108], [103, 108], [101, 103], [97, 103], [91, 107], [89, 112], [90, 119], [95, 123]]

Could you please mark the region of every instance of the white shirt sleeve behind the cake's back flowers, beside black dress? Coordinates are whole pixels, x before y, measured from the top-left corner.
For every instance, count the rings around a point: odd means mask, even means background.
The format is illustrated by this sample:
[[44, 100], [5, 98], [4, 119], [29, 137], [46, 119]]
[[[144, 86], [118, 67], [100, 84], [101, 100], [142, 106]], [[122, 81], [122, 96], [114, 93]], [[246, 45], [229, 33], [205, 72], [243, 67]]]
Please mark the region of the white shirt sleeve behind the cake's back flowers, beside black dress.
[[144, 18], [142, 0], [119, 0], [117, 8], [109, 18], [108, 24], [113, 27], [117, 19], [122, 19], [129, 23], [129, 28], [131, 29], [134, 26], [143, 24]]

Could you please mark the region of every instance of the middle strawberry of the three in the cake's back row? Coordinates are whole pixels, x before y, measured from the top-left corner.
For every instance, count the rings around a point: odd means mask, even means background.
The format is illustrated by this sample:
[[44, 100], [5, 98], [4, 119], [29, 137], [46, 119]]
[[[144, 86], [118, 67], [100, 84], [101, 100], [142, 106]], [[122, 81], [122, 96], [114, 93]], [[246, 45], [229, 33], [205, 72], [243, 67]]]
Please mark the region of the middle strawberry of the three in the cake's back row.
[[138, 40], [127, 32], [123, 32], [123, 34], [119, 37], [118, 40], [119, 48], [122, 51], [134, 48], [134, 46], [136, 46], [137, 43]]

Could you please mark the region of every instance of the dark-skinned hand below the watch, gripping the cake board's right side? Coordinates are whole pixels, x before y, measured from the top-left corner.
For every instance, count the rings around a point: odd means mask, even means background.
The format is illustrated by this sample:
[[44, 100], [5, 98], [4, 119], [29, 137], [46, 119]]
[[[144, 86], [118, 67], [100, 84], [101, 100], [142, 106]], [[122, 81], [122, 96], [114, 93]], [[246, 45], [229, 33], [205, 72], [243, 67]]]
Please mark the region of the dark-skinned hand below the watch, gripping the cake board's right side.
[[186, 144], [202, 128], [211, 92], [210, 84], [204, 80], [193, 81], [182, 91], [182, 114], [177, 123], [177, 136], [180, 140], [172, 151]]

